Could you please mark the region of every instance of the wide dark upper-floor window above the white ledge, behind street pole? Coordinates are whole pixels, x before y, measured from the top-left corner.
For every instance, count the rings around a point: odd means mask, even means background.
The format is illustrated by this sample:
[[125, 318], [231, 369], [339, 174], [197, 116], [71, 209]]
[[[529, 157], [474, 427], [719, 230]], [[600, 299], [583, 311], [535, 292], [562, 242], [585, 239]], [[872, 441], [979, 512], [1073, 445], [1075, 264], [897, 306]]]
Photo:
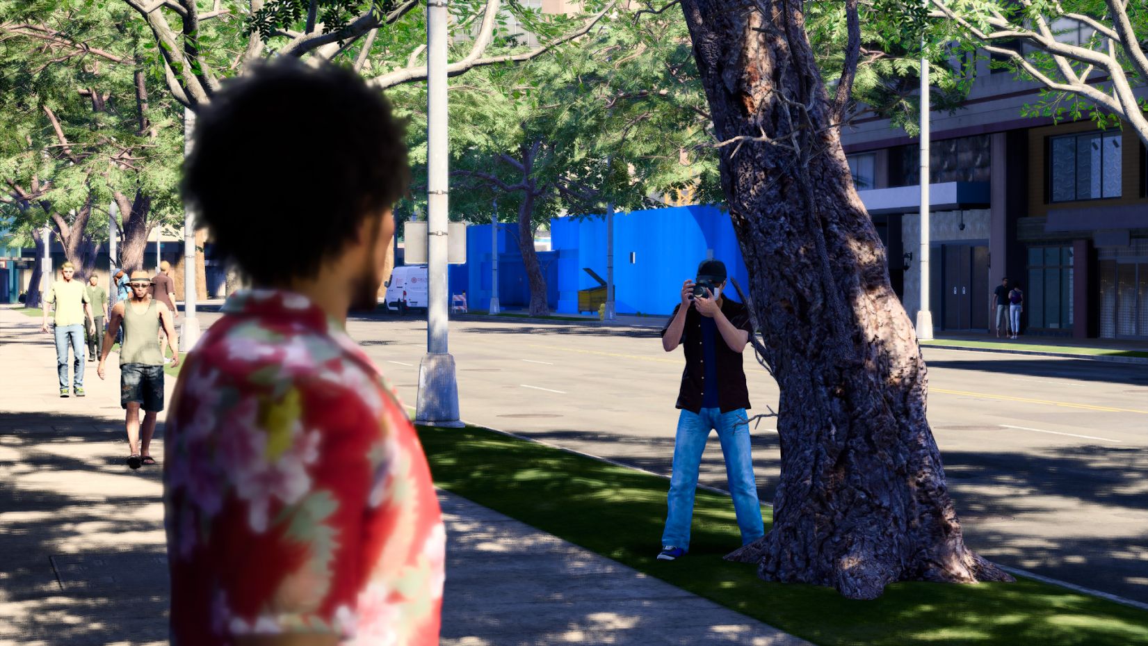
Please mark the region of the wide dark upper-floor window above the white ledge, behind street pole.
[[[916, 143], [890, 149], [890, 186], [914, 186], [921, 177], [921, 147]], [[929, 148], [929, 181], [988, 181], [987, 134], [941, 139]]]

